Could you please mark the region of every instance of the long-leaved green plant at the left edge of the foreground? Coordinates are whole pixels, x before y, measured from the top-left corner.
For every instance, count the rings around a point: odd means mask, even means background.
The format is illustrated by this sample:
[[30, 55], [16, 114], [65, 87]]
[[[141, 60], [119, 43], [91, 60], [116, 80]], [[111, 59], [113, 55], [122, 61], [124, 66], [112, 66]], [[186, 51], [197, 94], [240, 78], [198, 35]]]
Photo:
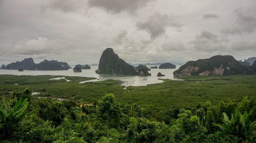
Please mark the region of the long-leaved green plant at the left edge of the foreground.
[[19, 98], [16, 104], [12, 107], [10, 102], [3, 97], [4, 107], [0, 106], [0, 123], [3, 126], [4, 137], [8, 137], [17, 122], [22, 120], [25, 116], [26, 109], [29, 105], [27, 100], [27, 98], [24, 100]]

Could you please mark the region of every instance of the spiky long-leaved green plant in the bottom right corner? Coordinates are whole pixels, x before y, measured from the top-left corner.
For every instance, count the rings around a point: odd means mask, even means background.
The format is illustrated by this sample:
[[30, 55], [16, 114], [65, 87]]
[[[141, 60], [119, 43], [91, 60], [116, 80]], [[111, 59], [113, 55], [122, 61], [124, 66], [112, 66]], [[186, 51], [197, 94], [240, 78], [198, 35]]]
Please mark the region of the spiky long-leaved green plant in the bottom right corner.
[[242, 114], [239, 107], [236, 108], [234, 114], [231, 115], [229, 120], [225, 112], [223, 112], [223, 123], [214, 124], [218, 126], [224, 133], [228, 135], [236, 135], [242, 140], [253, 140], [255, 139], [256, 121], [251, 122], [250, 116], [252, 115], [253, 109], [247, 113]]

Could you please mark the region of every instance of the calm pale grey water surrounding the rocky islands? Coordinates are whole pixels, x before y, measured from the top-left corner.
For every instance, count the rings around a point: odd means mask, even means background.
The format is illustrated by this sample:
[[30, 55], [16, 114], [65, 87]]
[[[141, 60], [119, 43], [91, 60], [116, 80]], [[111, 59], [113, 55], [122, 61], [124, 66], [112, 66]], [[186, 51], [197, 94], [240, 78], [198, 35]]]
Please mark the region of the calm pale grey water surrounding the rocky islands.
[[[159, 66], [159, 65], [157, 65]], [[147, 66], [153, 67], [153, 66]], [[180, 66], [176, 66], [178, 69]], [[105, 79], [114, 79], [122, 81], [122, 85], [125, 87], [127, 86], [140, 86], [140, 85], [147, 85], [153, 83], [160, 83], [163, 82], [158, 78], [162, 79], [174, 79], [173, 72], [176, 69], [151, 69], [148, 71], [151, 73], [151, 76], [121, 76], [121, 75], [107, 75], [107, 74], [96, 74], [95, 70], [98, 69], [98, 66], [91, 66], [90, 70], [82, 70], [80, 73], [74, 73], [72, 69], [68, 71], [29, 71], [24, 70], [23, 72], [18, 72], [18, 70], [0, 70], [0, 74], [12, 74], [12, 75], [63, 75], [65, 76], [82, 76], [82, 77], [95, 77], [96, 80], [92, 81], [99, 81]], [[165, 76], [157, 77], [157, 73], [161, 72]], [[99, 79], [99, 80], [98, 80]]]

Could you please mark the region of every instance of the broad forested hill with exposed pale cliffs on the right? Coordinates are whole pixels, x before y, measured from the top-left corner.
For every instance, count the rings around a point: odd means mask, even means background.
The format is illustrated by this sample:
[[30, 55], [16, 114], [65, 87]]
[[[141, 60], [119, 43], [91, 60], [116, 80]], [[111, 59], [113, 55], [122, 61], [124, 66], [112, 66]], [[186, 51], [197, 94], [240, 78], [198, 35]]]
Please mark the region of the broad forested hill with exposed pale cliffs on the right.
[[209, 59], [189, 61], [174, 72], [175, 77], [184, 75], [232, 75], [254, 74], [251, 66], [244, 66], [231, 55], [216, 55]]

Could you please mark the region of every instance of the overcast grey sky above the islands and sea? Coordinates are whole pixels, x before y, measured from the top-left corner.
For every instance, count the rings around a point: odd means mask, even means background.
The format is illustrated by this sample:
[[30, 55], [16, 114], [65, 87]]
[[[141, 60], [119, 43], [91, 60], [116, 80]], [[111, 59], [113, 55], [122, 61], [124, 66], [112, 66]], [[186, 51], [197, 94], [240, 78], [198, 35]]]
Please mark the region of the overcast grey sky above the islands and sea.
[[256, 56], [255, 0], [0, 0], [0, 64], [95, 64]]

